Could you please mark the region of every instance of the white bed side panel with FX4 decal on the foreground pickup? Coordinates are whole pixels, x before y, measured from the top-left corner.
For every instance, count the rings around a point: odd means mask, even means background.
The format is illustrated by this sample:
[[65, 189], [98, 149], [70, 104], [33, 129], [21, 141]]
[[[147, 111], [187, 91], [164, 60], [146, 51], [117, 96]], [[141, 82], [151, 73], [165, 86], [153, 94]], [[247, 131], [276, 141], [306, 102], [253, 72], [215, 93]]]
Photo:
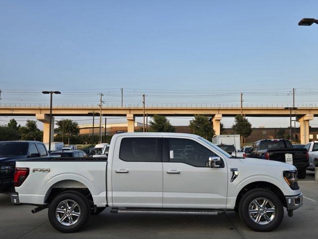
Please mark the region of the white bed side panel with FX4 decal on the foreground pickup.
[[98, 200], [106, 201], [106, 164], [100, 159], [17, 161], [16, 167], [29, 168], [29, 175], [15, 192], [20, 203], [43, 205], [52, 188], [80, 187], [87, 188], [93, 199], [101, 197]]

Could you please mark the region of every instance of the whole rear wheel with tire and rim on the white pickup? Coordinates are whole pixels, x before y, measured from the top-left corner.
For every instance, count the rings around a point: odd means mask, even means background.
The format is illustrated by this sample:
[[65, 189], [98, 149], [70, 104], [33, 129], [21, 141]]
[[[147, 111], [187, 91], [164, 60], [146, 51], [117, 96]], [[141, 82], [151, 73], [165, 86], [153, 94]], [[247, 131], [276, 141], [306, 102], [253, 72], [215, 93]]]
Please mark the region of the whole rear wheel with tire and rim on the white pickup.
[[79, 231], [88, 221], [88, 200], [80, 193], [65, 192], [56, 196], [49, 207], [51, 225], [62, 233]]

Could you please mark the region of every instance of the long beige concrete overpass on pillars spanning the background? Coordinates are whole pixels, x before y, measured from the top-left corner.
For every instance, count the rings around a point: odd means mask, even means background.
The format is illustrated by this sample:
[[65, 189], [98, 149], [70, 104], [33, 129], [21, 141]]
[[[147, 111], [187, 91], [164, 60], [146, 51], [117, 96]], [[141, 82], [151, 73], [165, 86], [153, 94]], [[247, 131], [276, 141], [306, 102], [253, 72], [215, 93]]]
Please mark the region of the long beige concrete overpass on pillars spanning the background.
[[[284, 109], [287, 105], [245, 105], [242, 113], [249, 117], [290, 117], [290, 110]], [[289, 106], [291, 107], [291, 106]], [[318, 116], [318, 105], [296, 105], [297, 110], [292, 110], [292, 116], [300, 122], [301, 143], [309, 142], [309, 121]], [[99, 114], [97, 105], [54, 105], [53, 116], [89, 116], [92, 113]], [[35, 116], [44, 123], [43, 141], [49, 139], [49, 115], [48, 105], [22, 105], [1, 104], [0, 116]], [[128, 132], [134, 131], [135, 117], [143, 116], [142, 105], [106, 105], [102, 107], [103, 116], [126, 116], [128, 120]], [[146, 105], [145, 113], [148, 116], [160, 114], [163, 116], [194, 116], [205, 115], [213, 119], [213, 127], [216, 134], [220, 134], [220, 121], [223, 116], [236, 116], [241, 113], [239, 105]]]

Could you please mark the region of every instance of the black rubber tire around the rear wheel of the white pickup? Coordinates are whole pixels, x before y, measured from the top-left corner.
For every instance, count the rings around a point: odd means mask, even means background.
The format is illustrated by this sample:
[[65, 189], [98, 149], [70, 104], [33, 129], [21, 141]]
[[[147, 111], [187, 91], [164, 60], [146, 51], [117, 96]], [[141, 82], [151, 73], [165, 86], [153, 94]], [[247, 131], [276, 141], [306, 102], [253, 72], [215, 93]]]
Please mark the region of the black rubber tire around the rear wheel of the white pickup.
[[[78, 205], [75, 210], [78, 210], [77, 213], [80, 213], [79, 216], [70, 216], [72, 217], [72, 220], [74, 221], [77, 220], [73, 225], [70, 225], [70, 226], [62, 225], [62, 223], [58, 221], [56, 216], [56, 209], [58, 208], [59, 204], [62, 204], [62, 202], [65, 200], [68, 200], [69, 203], [71, 202], [71, 204], [69, 204], [70, 207], [72, 207], [74, 205], [72, 203], [75, 202]], [[64, 207], [63, 204], [62, 204], [62, 207]], [[59, 215], [60, 215], [60, 218], [62, 218], [62, 216], [66, 214], [62, 213]], [[48, 216], [49, 216], [49, 221], [51, 225], [59, 232], [62, 232], [62, 233], [78, 232], [86, 224], [86, 222], [88, 221], [90, 217], [89, 202], [84, 195], [76, 191], [68, 191], [65, 193], [61, 193], [58, 196], [56, 196], [50, 203]], [[63, 222], [70, 223], [69, 217], [66, 217], [65, 221]]]

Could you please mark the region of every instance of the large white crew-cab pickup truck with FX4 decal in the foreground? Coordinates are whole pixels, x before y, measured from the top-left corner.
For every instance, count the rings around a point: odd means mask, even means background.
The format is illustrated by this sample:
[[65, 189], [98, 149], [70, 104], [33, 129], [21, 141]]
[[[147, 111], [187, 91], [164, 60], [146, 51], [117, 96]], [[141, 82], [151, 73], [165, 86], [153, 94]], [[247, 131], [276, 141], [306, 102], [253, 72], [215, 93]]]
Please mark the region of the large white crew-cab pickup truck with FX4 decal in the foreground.
[[12, 203], [49, 208], [52, 226], [79, 231], [91, 214], [224, 214], [236, 211], [252, 230], [272, 231], [284, 210], [303, 204], [296, 168], [234, 158], [204, 138], [182, 133], [121, 133], [108, 159], [17, 161]]

